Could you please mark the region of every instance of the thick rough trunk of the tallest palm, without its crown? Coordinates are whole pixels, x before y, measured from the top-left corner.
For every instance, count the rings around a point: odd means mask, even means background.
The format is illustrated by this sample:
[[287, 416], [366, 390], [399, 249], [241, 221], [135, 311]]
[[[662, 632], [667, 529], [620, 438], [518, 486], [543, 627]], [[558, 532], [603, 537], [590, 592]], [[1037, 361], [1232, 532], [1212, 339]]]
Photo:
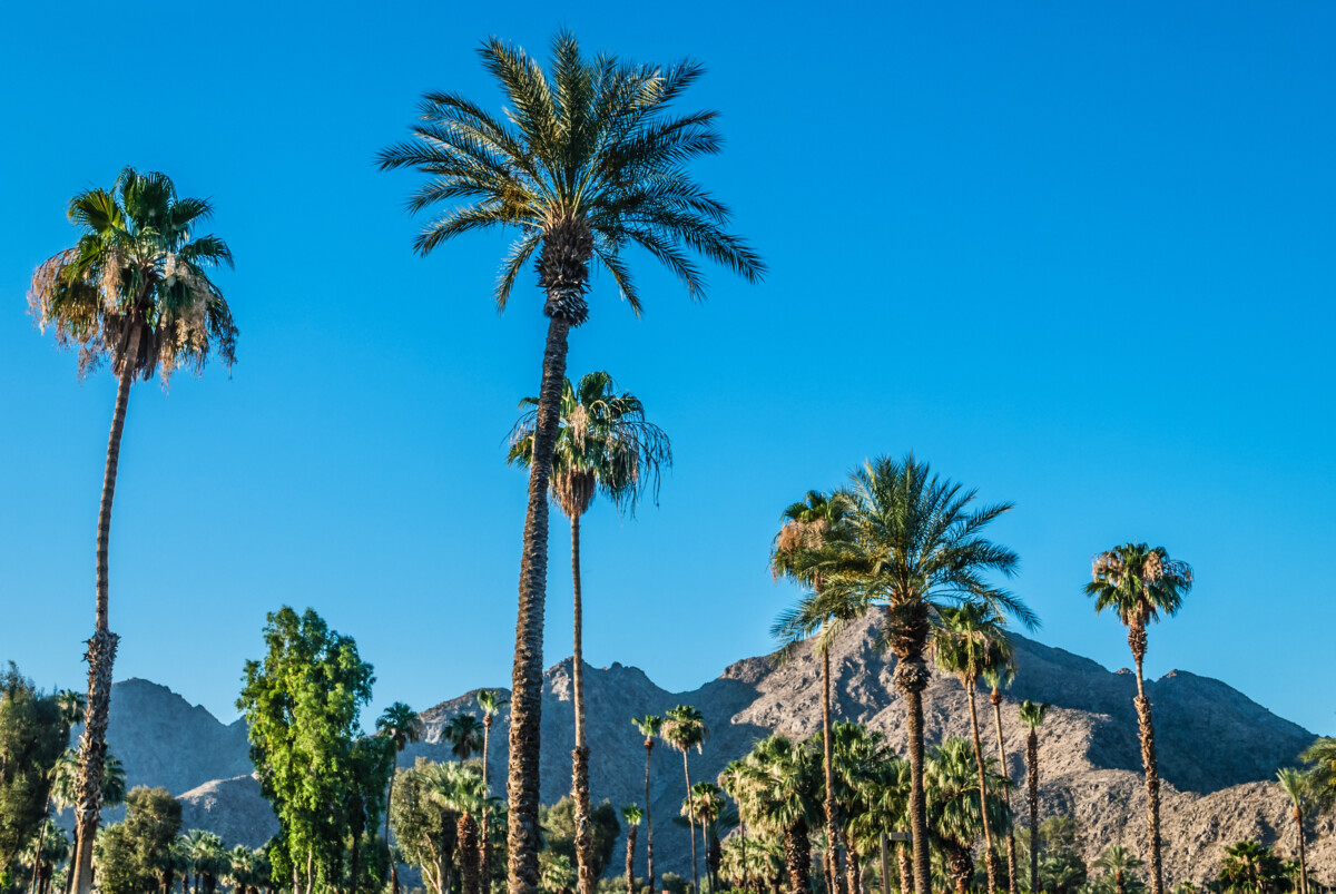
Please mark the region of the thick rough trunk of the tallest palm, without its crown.
[[[542, 621], [548, 584], [548, 480], [566, 374], [570, 323], [554, 315], [542, 354], [542, 384], [529, 465], [529, 508], [520, 559], [520, 607], [516, 619], [514, 671], [510, 683], [510, 767], [506, 795], [509, 894], [538, 889], [538, 744], [542, 719]], [[80, 891], [80, 894], [84, 894]]]

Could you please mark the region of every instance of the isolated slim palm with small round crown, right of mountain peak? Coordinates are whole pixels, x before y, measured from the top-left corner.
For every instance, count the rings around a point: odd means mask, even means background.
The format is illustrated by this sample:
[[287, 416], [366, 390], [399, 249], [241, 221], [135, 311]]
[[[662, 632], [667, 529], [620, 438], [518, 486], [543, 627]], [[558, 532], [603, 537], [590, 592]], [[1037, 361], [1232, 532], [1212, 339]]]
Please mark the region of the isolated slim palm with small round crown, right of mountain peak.
[[1112, 608], [1128, 628], [1128, 645], [1137, 664], [1137, 720], [1141, 732], [1141, 763], [1146, 771], [1146, 811], [1150, 825], [1150, 885], [1164, 894], [1165, 878], [1160, 861], [1160, 766], [1156, 760], [1156, 727], [1150, 699], [1141, 674], [1146, 656], [1146, 623], [1160, 615], [1173, 616], [1192, 589], [1192, 567], [1169, 559], [1164, 547], [1129, 543], [1096, 556], [1086, 596], [1094, 596], [1094, 611]]

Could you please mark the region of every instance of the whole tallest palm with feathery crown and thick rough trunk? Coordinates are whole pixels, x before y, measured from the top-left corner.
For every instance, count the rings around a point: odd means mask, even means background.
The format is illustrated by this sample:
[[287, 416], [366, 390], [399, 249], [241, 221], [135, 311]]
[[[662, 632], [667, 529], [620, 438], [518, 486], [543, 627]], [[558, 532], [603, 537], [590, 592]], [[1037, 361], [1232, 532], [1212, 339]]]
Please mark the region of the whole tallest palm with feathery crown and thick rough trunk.
[[692, 298], [704, 294], [704, 281], [688, 250], [749, 282], [762, 278], [764, 263], [727, 231], [729, 210], [687, 170], [691, 160], [723, 146], [715, 112], [673, 116], [669, 111], [704, 73], [699, 64], [587, 59], [569, 32], [553, 41], [548, 71], [496, 37], [480, 55], [505, 94], [504, 115], [458, 94], [429, 92], [413, 139], [383, 150], [379, 162], [382, 168], [411, 167], [430, 176], [410, 199], [413, 211], [448, 207], [418, 235], [418, 253], [429, 254], [470, 231], [518, 233], [497, 283], [498, 307], [505, 307], [520, 271], [537, 255], [549, 325], [520, 560], [508, 780], [510, 894], [533, 894], [538, 885], [546, 496], [566, 339], [589, 315], [589, 265], [600, 263], [639, 313], [640, 293], [623, 257], [629, 246], [664, 263]]

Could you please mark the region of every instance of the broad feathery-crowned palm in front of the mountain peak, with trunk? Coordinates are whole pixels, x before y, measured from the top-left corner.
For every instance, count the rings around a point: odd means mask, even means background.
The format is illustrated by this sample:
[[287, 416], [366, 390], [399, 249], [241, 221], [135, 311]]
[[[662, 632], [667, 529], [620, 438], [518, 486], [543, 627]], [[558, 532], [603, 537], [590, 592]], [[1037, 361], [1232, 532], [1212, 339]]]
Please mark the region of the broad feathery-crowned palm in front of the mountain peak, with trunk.
[[904, 696], [910, 758], [910, 834], [914, 887], [930, 890], [927, 806], [923, 799], [923, 690], [931, 615], [943, 604], [983, 604], [1027, 628], [1034, 613], [993, 587], [990, 573], [1011, 575], [1017, 556], [982, 536], [1010, 502], [974, 508], [975, 492], [941, 480], [912, 454], [878, 457], [850, 476], [846, 521], [820, 551], [824, 592], [880, 607], [882, 639], [895, 653], [894, 680]]

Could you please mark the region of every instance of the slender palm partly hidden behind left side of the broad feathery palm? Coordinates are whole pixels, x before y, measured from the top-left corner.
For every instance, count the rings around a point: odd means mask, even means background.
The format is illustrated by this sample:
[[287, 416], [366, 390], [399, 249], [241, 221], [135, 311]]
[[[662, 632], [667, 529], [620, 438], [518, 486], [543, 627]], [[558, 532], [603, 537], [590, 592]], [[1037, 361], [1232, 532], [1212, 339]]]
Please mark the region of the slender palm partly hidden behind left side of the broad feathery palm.
[[831, 778], [831, 655], [830, 647], [843, 625], [858, 617], [862, 605], [848, 599], [836, 600], [824, 597], [822, 587], [822, 569], [814, 567], [811, 553], [819, 553], [826, 543], [826, 535], [832, 525], [838, 525], [844, 516], [847, 504], [840, 494], [830, 497], [819, 490], [808, 490], [802, 502], [791, 504], [784, 509], [784, 525], [775, 535], [771, 547], [770, 568], [778, 580], [790, 577], [800, 584], [812, 588], [810, 595], [804, 595], [798, 605], [786, 611], [771, 627], [771, 635], [782, 640], [786, 648], [780, 656], [792, 651], [800, 640], [819, 632], [814, 645], [822, 656], [822, 740], [824, 742], [824, 772], [826, 772], [826, 835], [831, 846], [826, 850], [826, 873], [832, 879], [835, 894], [843, 894], [844, 889], [844, 861], [839, 847], [835, 846], [839, 830], [839, 806], [835, 802], [835, 784]]

